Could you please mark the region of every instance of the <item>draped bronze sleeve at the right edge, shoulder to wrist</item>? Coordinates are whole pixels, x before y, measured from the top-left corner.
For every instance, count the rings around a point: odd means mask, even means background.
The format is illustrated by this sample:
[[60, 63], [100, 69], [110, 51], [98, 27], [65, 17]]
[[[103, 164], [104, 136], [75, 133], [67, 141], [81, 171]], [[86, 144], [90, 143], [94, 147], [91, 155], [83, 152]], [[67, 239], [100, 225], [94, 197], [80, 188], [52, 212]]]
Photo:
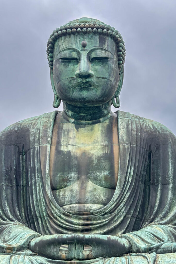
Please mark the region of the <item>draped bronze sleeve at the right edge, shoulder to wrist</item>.
[[130, 242], [134, 253], [171, 253], [176, 252], [176, 138], [165, 126], [151, 123], [144, 130], [146, 135], [151, 127], [143, 202], [137, 216], [141, 229], [120, 237]]

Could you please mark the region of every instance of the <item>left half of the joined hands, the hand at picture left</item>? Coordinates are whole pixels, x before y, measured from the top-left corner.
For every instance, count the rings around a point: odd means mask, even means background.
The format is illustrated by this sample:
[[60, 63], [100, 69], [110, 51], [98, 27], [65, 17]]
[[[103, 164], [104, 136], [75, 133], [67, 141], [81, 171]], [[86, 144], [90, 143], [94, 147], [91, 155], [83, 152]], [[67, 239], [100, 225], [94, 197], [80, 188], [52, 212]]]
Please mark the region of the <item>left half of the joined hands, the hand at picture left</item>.
[[[59, 250], [61, 245], [68, 245], [68, 253]], [[75, 258], [75, 234], [72, 235], [43, 235], [33, 238], [28, 248], [37, 254], [56, 260], [73, 260]]]

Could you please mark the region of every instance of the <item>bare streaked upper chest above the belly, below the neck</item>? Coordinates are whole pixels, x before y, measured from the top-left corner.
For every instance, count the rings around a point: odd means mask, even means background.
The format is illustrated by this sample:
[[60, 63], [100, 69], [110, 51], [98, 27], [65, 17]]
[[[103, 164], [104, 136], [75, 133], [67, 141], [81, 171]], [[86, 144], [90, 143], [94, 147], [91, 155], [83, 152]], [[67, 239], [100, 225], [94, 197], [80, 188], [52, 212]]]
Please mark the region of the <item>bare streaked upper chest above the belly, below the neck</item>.
[[56, 119], [50, 149], [50, 183], [59, 190], [80, 181], [115, 189], [119, 145], [116, 117], [95, 125]]

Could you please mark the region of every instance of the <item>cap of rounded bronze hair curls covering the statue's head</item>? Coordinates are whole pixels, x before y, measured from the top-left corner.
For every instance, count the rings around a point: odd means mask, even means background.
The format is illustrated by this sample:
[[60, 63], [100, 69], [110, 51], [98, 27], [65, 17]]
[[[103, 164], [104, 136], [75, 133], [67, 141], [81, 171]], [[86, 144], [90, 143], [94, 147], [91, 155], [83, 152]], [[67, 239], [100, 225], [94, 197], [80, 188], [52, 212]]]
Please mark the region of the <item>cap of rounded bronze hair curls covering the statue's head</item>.
[[125, 42], [121, 34], [114, 27], [107, 25], [97, 19], [82, 17], [68, 22], [67, 24], [57, 27], [56, 30], [50, 35], [50, 38], [47, 42], [47, 57], [49, 67], [53, 69], [53, 49], [54, 43], [59, 38], [66, 34], [103, 34], [113, 38], [117, 46], [117, 55], [118, 55], [118, 68], [121, 68], [125, 62]]

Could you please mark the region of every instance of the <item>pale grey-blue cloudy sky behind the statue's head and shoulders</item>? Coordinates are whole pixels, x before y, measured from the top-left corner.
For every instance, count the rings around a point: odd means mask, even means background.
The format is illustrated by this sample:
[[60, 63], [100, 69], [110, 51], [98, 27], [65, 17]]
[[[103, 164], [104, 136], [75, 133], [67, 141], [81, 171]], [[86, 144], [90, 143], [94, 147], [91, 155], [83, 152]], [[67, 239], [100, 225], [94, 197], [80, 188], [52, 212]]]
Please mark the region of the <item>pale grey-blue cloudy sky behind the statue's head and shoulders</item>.
[[176, 134], [175, 13], [175, 0], [1, 0], [0, 131], [55, 110], [46, 43], [56, 27], [85, 16], [115, 27], [125, 41], [120, 110]]

